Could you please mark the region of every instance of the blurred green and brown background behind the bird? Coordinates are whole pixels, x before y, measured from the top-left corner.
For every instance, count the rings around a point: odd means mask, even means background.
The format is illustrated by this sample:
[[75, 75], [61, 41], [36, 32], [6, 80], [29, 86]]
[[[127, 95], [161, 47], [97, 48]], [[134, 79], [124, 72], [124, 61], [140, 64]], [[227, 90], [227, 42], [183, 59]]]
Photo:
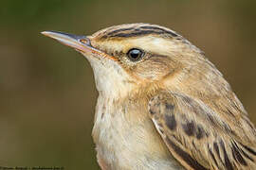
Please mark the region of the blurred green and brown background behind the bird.
[[135, 22], [170, 27], [206, 52], [255, 124], [255, 18], [255, 0], [1, 0], [0, 165], [99, 169], [92, 70], [41, 31], [88, 35]]

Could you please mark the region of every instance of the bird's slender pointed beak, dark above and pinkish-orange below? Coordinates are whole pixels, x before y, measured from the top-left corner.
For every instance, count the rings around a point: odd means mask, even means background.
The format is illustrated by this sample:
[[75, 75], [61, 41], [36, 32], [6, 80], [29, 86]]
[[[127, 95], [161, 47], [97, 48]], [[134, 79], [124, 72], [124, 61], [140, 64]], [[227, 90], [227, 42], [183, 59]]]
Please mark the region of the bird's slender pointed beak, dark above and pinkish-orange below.
[[102, 59], [102, 57], [117, 60], [113, 56], [109, 56], [106, 53], [94, 48], [91, 45], [90, 39], [86, 36], [77, 36], [72, 34], [67, 34], [63, 32], [57, 31], [43, 31], [41, 32], [47, 37], [55, 39], [64, 45], [73, 47], [77, 51], [82, 52], [83, 55], [87, 56], [94, 56], [96, 58]]

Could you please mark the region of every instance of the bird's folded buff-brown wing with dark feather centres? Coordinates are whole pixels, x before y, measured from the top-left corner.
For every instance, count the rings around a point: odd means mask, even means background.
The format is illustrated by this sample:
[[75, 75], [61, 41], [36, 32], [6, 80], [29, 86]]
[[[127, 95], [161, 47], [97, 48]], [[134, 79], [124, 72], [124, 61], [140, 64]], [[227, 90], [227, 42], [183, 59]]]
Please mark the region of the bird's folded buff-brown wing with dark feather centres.
[[[246, 116], [230, 127], [203, 102], [173, 93], [156, 95], [148, 106], [157, 131], [185, 168], [256, 169], [255, 128]], [[244, 139], [246, 133], [253, 133], [254, 139]]]

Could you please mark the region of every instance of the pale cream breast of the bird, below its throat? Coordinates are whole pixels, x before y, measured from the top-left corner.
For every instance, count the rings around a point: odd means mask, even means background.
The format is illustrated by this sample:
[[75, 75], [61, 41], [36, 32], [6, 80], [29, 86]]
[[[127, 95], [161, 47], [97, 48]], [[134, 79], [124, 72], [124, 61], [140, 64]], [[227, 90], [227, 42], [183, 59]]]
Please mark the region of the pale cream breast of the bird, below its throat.
[[139, 101], [100, 95], [93, 138], [102, 169], [181, 169]]

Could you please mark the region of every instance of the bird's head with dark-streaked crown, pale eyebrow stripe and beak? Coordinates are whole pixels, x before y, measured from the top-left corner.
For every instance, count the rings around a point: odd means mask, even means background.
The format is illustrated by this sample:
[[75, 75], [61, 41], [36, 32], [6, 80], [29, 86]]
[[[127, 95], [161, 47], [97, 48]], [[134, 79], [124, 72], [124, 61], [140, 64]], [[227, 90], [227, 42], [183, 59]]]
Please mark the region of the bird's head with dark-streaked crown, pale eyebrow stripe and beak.
[[42, 33], [81, 52], [93, 68], [98, 91], [116, 97], [179, 79], [201, 56], [199, 49], [163, 26], [111, 26], [91, 36]]

